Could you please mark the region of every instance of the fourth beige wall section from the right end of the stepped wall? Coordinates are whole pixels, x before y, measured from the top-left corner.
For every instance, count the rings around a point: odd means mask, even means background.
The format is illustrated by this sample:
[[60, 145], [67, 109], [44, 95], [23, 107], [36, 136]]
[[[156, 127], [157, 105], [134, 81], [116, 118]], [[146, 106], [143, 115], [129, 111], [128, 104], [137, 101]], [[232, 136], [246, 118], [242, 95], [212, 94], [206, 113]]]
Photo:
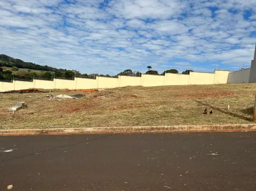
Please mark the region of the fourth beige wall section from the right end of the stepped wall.
[[141, 86], [151, 87], [151, 86], [163, 86], [163, 85], [164, 85], [163, 75], [142, 74]]

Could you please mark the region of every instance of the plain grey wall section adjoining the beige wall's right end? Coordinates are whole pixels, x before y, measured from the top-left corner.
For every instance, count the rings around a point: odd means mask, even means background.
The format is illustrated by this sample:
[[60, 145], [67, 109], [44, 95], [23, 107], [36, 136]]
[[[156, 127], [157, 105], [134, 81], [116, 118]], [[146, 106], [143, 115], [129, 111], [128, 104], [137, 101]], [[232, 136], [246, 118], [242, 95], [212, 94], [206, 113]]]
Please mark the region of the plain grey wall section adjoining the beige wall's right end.
[[239, 84], [248, 83], [251, 68], [243, 69], [241, 71], [231, 72], [228, 75], [228, 83]]

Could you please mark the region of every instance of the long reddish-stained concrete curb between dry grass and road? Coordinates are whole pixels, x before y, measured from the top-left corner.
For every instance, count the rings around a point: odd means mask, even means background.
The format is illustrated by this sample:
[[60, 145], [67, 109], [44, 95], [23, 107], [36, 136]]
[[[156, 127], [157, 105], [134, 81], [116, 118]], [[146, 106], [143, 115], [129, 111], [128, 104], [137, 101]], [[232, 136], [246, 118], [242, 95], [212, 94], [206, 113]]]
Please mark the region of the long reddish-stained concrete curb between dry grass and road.
[[194, 131], [255, 131], [256, 124], [242, 125], [181, 125], [181, 126], [134, 126], [116, 128], [70, 128], [70, 129], [11, 129], [0, 130], [0, 135], [63, 135], [88, 133], [128, 132], [194, 132]]

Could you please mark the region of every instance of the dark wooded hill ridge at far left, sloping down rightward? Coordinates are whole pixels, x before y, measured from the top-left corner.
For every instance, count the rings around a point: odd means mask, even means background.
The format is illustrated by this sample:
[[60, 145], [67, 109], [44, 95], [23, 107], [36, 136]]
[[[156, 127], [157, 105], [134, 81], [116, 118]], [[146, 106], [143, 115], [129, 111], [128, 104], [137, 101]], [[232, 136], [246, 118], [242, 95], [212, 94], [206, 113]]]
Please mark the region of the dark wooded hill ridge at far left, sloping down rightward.
[[53, 68], [50, 66], [41, 66], [37, 65], [32, 62], [24, 62], [23, 60], [20, 59], [14, 59], [11, 58], [10, 56], [0, 54], [0, 67], [18, 67], [18, 68], [27, 68], [27, 69], [34, 69], [37, 71], [51, 71], [51, 72], [64, 72], [65, 69], [58, 69], [58, 68]]

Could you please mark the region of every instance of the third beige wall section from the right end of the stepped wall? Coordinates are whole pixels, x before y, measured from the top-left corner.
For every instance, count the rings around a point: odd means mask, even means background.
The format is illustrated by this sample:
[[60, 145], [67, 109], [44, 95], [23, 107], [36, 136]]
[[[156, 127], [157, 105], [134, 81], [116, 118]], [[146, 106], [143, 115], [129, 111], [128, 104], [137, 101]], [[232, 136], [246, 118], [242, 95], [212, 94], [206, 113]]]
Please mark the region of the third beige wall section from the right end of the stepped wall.
[[189, 78], [190, 75], [166, 73], [164, 78], [164, 85], [188, 85]]

